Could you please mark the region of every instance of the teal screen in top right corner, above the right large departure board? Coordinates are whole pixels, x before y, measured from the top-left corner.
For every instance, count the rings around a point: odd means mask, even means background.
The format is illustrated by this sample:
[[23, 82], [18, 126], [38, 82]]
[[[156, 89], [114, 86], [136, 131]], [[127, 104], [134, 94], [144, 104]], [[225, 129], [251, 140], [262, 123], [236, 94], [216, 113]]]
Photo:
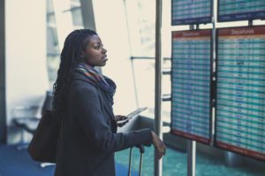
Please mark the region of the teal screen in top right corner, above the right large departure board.
[[264, 0], [219, 0], [218, 21], [264, 19]]

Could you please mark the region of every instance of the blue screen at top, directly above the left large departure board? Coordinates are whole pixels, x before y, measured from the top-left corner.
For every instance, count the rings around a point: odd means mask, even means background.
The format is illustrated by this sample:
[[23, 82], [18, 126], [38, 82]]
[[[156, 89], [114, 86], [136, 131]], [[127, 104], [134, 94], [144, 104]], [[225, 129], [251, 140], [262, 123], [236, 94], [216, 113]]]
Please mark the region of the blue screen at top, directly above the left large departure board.
[[212, 0], [172, 0], [171, 24], [190, 25], [211, 22]]

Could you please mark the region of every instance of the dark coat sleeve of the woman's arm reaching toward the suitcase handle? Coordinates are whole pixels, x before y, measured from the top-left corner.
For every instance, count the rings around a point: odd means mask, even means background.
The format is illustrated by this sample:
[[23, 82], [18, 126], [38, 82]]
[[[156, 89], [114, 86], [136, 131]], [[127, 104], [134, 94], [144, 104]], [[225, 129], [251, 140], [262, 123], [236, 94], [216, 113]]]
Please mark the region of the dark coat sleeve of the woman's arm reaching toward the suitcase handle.
[[91, 145], [102, 151], [115, 152], [139, 144], [151, 144], [150, 129], [112, 134], [104, 118], [98, 94], [94, 86], [87, 84], [77, 89], [72, 102], [75, 117]]

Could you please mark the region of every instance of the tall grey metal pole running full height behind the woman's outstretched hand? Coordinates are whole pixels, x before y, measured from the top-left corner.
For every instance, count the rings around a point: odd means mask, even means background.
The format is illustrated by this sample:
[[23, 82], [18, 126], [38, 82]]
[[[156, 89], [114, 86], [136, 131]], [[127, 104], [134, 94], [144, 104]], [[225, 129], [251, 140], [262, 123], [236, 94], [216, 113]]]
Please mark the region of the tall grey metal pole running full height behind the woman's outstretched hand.
[[[155, 4], [155, 134], [163, 139], [161, 103], [162, 103], [162, 57], [161, 57], [161, 27], [162, 27], [162, 0], [156, 0]], [[162, 159], [156, 157], [158, 152], [155, 149], [155, 176], [162, 176]]]

